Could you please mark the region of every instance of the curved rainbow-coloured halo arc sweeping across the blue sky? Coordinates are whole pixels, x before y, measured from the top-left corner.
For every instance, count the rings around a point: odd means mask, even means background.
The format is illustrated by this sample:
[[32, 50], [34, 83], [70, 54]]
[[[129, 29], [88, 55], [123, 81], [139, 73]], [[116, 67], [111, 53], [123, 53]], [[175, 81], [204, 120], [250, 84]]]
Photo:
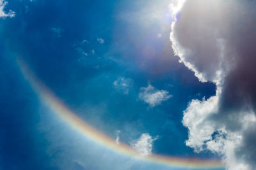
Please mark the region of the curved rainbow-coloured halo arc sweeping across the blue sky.
[[36, 78], [35, 74], [29, 70], [29, 67], [26, 66], [22, 60], [17, 59], [17, 63], [24, 78], [29, 81], [36, 94], [38, 94], [42, 101], [45, 101], [45, 103], [54, 113], [56, 113], [56, 115], [65, 120], [68, 125], [76, 129], [76, 131], [79, 131], [81, 134], [83, 134], [83, 136], [86, 136], [86, 138], [95, 141], [99, 145], [135, 159], [154, 162], [164, 166], [184, 167], [191, 169], [219, 169], [225, 167], [221, 160], [184, 159], [180, 157], [170, 157], [157, 154], [142, 157], [140, 153], [136, 152], [136, 150], [134, 150], [131, 146], [121, 142], [117, 144], [115, 139], [112, 139], [106, 134], [97, 131], [97, 129], [93, 128], [91, 125], [84, 122], [81, 118], [77, 117], [75, 113], [73, 113], [67, 108], [67, 106], [61, 103], [60, 99], [58, 99], [58, 97], [56, 97], [50, 89], [45, 87], [45, 85], [40, 80], [38, 80], [38, 78]]

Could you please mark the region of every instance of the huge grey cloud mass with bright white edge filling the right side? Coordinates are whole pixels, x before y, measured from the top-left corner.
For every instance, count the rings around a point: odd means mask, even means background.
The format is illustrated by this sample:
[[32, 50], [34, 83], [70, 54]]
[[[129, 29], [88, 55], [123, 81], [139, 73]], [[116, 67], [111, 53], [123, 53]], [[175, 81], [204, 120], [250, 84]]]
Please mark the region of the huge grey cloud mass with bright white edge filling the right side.
[[[177, 6], [177, 4], [179, 4]], [[174, 1], [170, 39], [180, 62], [216, 96], [193, 100], [184, 111], [186, 145], [218, 153], [232, 170], [256, 167], [256, 2]]]

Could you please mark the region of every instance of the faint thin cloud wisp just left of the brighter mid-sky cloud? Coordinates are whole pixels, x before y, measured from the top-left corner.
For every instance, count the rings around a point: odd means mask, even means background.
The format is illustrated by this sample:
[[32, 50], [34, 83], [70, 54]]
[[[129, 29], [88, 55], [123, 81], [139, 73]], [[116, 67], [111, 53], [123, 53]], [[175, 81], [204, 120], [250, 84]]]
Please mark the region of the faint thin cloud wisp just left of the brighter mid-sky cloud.
[[133, 82], [134, 81], [131, 78], [118, 77], [117, 80], [114, 81], [113, 85], [115, 89], [127, 95], [133, 86]]

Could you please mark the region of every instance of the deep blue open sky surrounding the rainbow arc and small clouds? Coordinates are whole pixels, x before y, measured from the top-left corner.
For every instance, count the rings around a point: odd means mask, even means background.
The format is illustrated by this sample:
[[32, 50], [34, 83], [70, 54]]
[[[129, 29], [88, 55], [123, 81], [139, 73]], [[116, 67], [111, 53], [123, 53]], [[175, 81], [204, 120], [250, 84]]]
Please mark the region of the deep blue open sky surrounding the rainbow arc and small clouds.
[[118, 155], [74, 131], [38, 98], [17, 58], [113, 139], [132, 146], [149, 134], [156, 138], [152, 153], [221, 159], [186, 146], [183, 111], [192, 99], [215, 96], [216, 82], [199, 81], [173, 55], [169, 4], [8, 1], [5, 13], [15, 16], [0, 18], [0, 169], [172, 169]]

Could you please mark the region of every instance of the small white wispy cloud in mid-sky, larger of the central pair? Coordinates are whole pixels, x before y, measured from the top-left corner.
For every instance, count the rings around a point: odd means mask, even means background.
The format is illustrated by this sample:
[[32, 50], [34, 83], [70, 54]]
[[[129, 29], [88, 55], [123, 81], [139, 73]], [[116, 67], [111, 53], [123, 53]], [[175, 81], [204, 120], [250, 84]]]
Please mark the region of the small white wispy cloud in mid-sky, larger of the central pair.
[[139, 93], [139, 99], [149, 104], [150, 107], [160, 105], [163, 101], [167, 101], [172, 95], [166, 90], [157, 90], [152, 85], [148, 84], [148, 87], [141, 87]]

